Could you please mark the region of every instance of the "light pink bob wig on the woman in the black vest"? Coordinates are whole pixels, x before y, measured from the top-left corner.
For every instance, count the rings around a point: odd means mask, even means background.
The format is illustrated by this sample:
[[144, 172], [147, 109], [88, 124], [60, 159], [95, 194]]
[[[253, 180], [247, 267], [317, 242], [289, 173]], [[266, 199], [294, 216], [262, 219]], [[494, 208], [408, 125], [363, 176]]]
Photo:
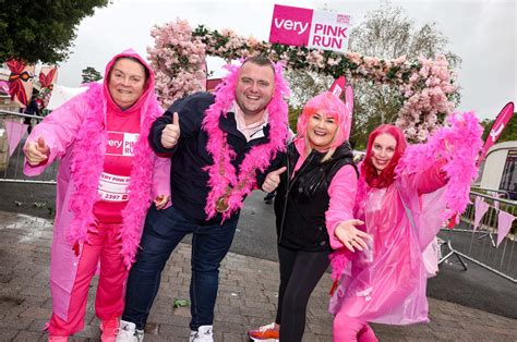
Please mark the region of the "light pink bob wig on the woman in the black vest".
[[303, 111], [300, 118], [298, 118], [297, 124], [297, 132], [300, 138], [305, 137], [309, 119], [316, 112], [337, 121], [338, 130], [330, 144], [330, 148], [336, 148], [348, 139], [351, 115], [348, 113], [345, 103], [330, 91], [325, 91], [313, 97], [303, 107]]

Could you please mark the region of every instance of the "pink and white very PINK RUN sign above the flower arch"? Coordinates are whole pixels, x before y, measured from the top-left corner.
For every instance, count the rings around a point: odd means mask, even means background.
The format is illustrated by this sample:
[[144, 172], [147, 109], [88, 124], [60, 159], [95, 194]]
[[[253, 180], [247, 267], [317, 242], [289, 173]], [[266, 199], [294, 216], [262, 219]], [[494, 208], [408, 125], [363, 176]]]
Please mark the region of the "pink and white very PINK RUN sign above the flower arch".
[[269, 42], [345, 52], [350, 15], [275, 4]]

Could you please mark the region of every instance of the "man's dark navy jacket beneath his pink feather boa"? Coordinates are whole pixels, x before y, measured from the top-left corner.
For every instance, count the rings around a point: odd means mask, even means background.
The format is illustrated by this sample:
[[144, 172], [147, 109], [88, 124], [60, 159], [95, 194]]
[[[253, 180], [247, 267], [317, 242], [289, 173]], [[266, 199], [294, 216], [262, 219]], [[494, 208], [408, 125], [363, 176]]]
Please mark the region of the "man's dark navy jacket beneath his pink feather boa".
[[[205, 110], [214, 102], [209, 93], [196, 93], [177, 100], [158, 118], [149, 132], [149, 144], [156, 152], [172, 154], [170, 170], [171, 199], [175, 208], [185, 218], [197, 224], [214, 224], [220, 222], [217, 215], [206, 220], [205, 205], [209, 188], [208, 173], [203, 170], [213, 164], [212, 156], [206, 150], [208, 136], [201, 124]], [[166, 124], [172, 123], [172, 114], [178, 112], [180, 121], [180, 138], [178, 145], [167, 149], [161, 145], [161, 131]], [[245, 154], [257, 144], [269, 142], [269, 126], [264, 127], [264, 137], [247, 142], [244, 135], [237, 130], [232, 112], [220, 117], [219, 127], [227, 133], [227, 142], [236, 151], [237, 157], [231, 161], [236, 170], [244, 159]], [[237, 213], [233, 213], [237, 215]]]

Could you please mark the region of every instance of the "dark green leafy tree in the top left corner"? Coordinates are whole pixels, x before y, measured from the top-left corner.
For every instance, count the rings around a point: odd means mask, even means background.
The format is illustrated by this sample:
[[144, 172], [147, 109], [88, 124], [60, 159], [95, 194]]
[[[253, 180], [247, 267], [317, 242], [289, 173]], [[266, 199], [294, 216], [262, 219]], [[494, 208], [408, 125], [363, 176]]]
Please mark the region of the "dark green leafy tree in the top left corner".
[[10, 59], [55, 64], [63, 61], [75, 27], [108, 0], [4, 0], [0, 11], [0, 63]]

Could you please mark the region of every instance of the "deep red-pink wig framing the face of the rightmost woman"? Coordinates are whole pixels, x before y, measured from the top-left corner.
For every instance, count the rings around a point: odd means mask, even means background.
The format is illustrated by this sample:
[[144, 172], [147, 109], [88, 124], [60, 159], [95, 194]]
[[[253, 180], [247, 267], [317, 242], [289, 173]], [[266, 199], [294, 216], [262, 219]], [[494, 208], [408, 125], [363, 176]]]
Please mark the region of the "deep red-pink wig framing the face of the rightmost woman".
[[[392, 135], [397, 142], [397, 146], [395, 146], [395, 154], [387, 167], [377, 174], [377, 170], [372, 163], [372, 145], [373, 141], [375, 141], [375, 138], [381, 134]], [[361, 176], [364, 176], [368, 185], [371, 187], [386, 187], [393, 183], [395, 168], [397, 167], [400, 157], [404, 155], [407, 145], [402, 130], [390, 124], [382, 124], [370, 133], [366, 146], [366, 157], [361, 164]]]

